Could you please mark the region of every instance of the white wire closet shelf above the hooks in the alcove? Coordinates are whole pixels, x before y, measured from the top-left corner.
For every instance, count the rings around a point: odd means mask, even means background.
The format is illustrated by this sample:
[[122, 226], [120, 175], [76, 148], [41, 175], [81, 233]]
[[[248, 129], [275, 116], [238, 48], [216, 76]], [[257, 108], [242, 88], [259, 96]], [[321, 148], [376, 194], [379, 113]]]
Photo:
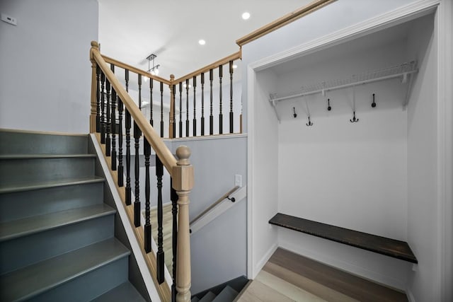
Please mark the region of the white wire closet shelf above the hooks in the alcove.
[[336, 79], [333, 81], [316, 83], [309, 86], [302, 86], [299, 91], [291, 91], [287, 93], [270, 93], [270, 102], [275, 106], [275, 102], [281, 100], [289, 100], [292, 98], [299, 98], [305, 95], [314, 95], [321, 93], [325, 95], [327, 91], [334, 91], [341, 88], [348, 88], [352, 86], [358, 86], [366, 83], [372, 83], [377, 81], [384, 81], [388, 79], [396, 79], [401, 77], [401, 82], [406, 83], [408, 78], [411, 80], [411, 74], [415, 74], [418, 71], [417, 62], [411, 61], [409, 63], [403, 63], [399, 65], [389, 66], [383, 69], [377, 69], [374, 71], [366, 71], [362, 74], [354, 74], [347, 79]]

